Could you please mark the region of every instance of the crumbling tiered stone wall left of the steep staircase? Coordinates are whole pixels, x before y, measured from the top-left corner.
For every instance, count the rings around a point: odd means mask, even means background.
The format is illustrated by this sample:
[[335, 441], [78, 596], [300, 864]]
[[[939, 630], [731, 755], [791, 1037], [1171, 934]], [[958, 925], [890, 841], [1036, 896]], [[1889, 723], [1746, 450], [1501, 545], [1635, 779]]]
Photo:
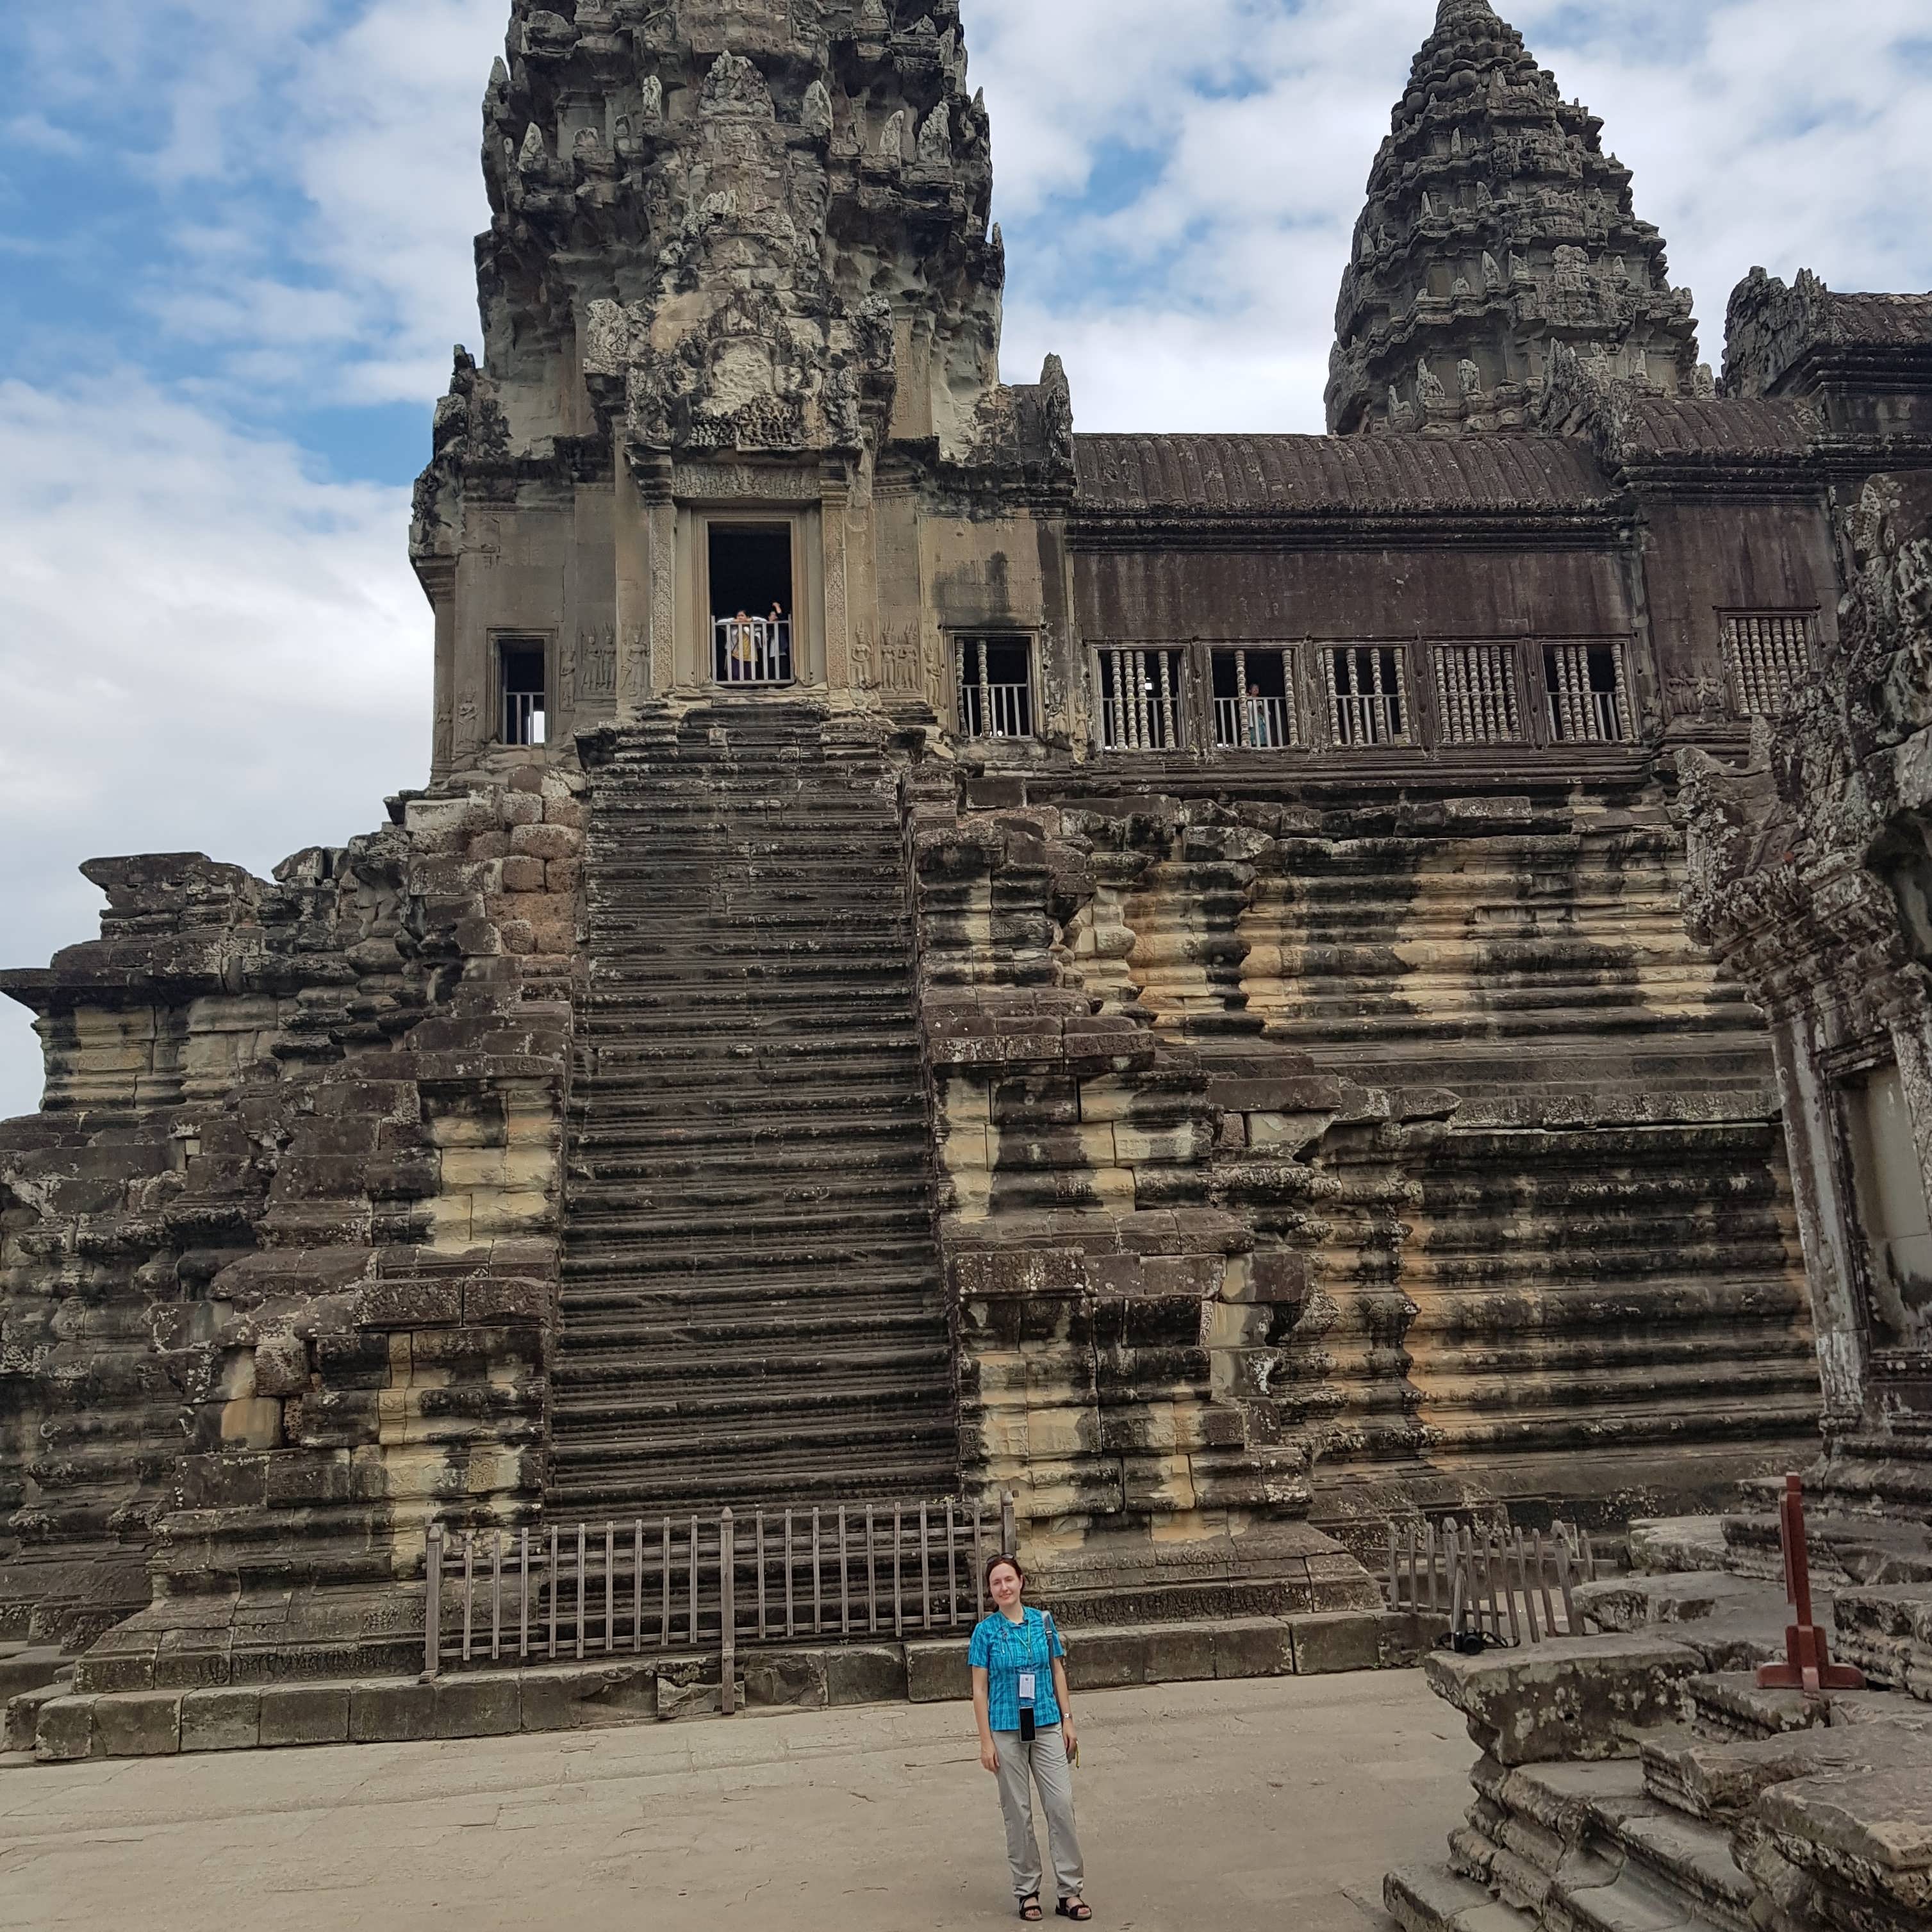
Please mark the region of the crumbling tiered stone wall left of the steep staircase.
[[580, 786], [477, 775], [274, 883], [102, 862], [102, 939], [10, 976], [50, 1070], [0, 1128], [12, 1623], [99, 1634], [156, 1538], [137, 1658], [355, 1648], [394, 1604], [317, 1586], [535, 1507]]

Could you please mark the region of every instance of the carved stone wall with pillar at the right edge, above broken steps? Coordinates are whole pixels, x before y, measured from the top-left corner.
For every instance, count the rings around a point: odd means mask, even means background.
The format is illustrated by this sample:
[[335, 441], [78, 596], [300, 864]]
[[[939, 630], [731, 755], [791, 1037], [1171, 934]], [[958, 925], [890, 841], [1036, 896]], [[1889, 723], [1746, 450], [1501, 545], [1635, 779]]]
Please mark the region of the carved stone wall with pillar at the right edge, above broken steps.
[[[1818, 1308], [1828, 1463], [1855, 1511], [1932, 1501], [1932, 1285], [1907, 1200], [1880, 1200], [1853, 1126], [1895, 1080], [1901, 1194], [1932, 1194], [1932, 485], [1870, 481], [1845, 518], [1839, 636], [1748, 769], [1687, 753], [1692, 929], [1770, 1018]], [[1903, 1238], [1903, 1246], [1893, 1246]]]

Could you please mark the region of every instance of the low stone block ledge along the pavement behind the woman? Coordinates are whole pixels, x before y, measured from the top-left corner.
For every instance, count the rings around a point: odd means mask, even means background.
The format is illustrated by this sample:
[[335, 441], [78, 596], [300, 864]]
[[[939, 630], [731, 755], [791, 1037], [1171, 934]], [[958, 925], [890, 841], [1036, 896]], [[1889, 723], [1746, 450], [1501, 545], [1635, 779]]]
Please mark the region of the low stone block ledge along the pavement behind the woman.
[[[1389, 1611], [1161, 1623], [1068, 1634], [1074, 1690], [1244, 1677], [1405, 1669], [1439, 1619]], [[746, 1714], [856, 1704], [947, 1704], [972, 1696], [966, 1638], [761, 1648], [738, 1656]], [[0, 1750], [25, 1762], [164, 1758], [286, 1745], [400, 1745], [583, 1731], [717, 1716], [719, 1658], [585, 1658], [427, 1679], [340, 1679], [120, 1690], [48, 1687], [6, 1708]]]

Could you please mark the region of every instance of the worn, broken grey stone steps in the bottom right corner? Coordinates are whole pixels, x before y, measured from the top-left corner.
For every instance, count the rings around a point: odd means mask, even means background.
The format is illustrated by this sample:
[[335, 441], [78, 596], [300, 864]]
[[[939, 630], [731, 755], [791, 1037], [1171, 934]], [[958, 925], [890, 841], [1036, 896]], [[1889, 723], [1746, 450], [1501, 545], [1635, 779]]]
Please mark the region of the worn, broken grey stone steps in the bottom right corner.
[[1760, 1690], [1781, 1592], [1592, 1584], [1602, 1634], [1432, 1658], [1484, 1756], [1447, 1866], [1391, 1872], [1403, 1932], [1924, 1932], [1932, 1710]]

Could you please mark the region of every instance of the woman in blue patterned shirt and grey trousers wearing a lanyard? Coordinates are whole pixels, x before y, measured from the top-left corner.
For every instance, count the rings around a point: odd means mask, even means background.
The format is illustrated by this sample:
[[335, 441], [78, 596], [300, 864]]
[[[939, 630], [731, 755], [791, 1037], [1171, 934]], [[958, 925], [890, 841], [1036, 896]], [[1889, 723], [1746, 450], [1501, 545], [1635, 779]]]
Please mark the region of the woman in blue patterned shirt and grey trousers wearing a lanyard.
[[1016, 1557], [985, 1567], [993, 1615], [972, 1633], [972, 1708], [980, 1719], [980, 1764], [999, 1779], [1007, 1820], [1007, 1862], [1020, 1917], [1037, 1920], [1039, 1839], [1034, 1833], [1034, 1785], [1047, 1814], [1047, 1845], [1059, 1884], [1059, 1917], [1094, 1917], [1086, 1899], [1080, 1835], [1074, 1830], [1072, 1766], [1080, 1739], [1066, 1694], [1066, 1646], [1049, 1615], [1026, 1605], [1026, 1573]]

